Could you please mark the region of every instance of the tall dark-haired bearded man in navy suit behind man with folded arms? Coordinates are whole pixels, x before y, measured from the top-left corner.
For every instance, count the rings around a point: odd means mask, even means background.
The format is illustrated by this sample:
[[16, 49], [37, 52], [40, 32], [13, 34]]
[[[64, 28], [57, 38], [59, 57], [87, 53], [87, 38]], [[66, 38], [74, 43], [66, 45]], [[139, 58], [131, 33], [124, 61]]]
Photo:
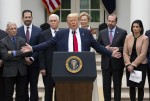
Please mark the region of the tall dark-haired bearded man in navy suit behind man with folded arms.
[[[22, 20], [24, 25], [17, 29], [17, 36], [23, 37], [30, 45], [37, 45], [39, 42], [39, 34], [41, 29], [32, 24], [32, 11], [24, 10], [22, 12]], [[38, 101], [38, 77], [39, 77], [39, 64], [38, 53], [34, 53], [30, 57], [26, 57], [28, 66], [28, 84], [30, 83], [30, 101]], [[27, 84], [27, 100], [29, 101]]]

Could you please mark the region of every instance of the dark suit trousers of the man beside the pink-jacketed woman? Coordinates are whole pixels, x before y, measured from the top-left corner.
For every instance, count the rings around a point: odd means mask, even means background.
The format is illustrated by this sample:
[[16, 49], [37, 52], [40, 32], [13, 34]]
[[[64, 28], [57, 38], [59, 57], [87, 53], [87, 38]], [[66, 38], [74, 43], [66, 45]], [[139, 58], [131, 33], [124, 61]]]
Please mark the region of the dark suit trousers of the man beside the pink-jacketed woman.
[[102, 70], [104, 101], [111, 101], [111, 82], [113, 79], [114, 101], [121, 101], [123, 70]]

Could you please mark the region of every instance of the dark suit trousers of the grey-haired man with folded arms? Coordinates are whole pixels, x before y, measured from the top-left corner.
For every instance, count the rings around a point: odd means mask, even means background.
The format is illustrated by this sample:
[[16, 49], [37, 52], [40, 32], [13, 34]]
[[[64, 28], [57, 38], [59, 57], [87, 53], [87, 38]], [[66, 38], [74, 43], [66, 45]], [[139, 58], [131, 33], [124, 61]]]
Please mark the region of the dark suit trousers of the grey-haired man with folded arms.
[[19, 73], [16, 77], [4, 77], [4, 101], [13, 101], [14, 87], [16, 90], [15, 101], [25, 101], [27, 77]]

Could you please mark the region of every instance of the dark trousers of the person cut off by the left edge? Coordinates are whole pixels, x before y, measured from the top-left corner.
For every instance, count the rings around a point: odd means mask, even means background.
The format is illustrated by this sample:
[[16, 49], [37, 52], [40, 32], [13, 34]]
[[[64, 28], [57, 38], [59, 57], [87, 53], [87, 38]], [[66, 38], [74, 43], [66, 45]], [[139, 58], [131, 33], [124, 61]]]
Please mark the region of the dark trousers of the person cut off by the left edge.
[[2, 77], [2, 67], [0, 67], [0, 100], [3, 101], [4, 97], [4, 80]]

